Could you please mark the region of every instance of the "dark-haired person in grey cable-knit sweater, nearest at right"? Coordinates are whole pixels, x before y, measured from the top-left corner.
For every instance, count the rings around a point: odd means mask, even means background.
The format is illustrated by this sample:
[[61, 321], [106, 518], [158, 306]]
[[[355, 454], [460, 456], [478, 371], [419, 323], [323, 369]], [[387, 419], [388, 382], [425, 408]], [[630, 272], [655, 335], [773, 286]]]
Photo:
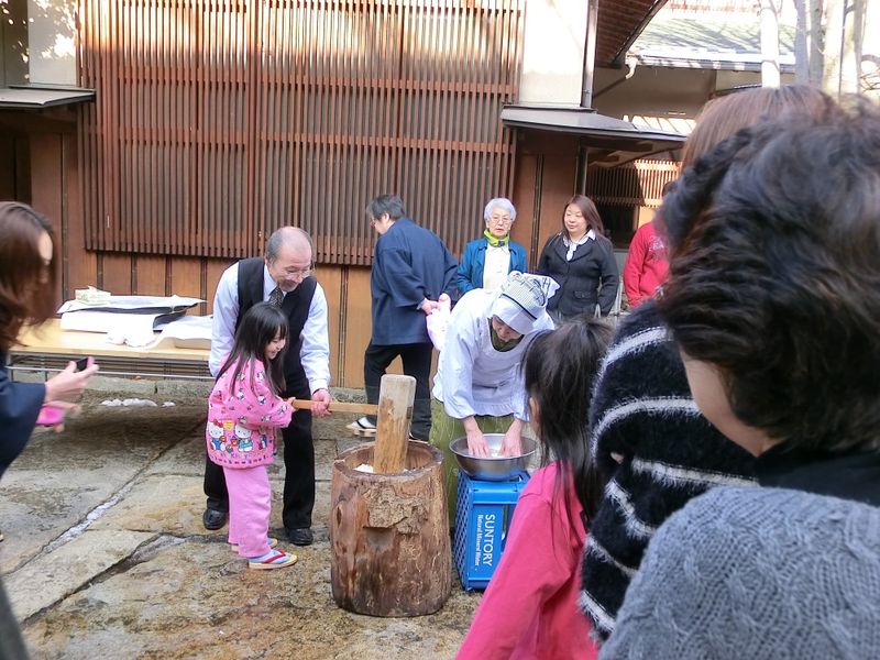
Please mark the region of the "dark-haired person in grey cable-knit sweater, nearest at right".
[[880, 112], [738, 132], [664, 205], [661, 317], [757, 457], [658, 531], [604, 658], [880, 656]]

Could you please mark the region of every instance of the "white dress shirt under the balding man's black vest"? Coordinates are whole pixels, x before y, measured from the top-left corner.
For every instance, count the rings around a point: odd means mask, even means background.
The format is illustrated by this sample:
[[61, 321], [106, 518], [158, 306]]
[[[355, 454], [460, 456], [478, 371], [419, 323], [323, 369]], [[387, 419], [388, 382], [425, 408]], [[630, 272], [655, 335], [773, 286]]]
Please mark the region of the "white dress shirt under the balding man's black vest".
[[[277, 285], [263, 266], [263, 300]], [[208, 369], [211, 375], [217, 373], [223, 360], [232, 350], [235, 337], [235, 320], [239, 318], [239, 264], [232, 264], [223, 271], [213, 297], [213, 319], [211, 321], [211, 356]], [[309, 305], [309, 316], [302, 327], [302, 349], [299, 360], [309, 381], [309, 389], [314, 394], [318, 389], [330, 386], [330, 338], [327, 330], [327, 297], [321, 285], [315, 287], [315, 295]]]

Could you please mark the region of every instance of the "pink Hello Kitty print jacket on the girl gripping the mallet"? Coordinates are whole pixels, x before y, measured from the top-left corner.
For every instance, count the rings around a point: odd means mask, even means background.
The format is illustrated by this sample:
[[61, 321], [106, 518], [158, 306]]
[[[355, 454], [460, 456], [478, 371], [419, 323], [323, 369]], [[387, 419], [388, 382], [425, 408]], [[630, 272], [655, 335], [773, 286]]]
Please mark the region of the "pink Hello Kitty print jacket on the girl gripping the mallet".
[[208, 398], [208, 457], [223, 468], [272, 463], [275, 433], [290, 424], [294, 409], [272, 393], [258, 360], [248, 361], [235, 383], [235, 364], [221, 375]]

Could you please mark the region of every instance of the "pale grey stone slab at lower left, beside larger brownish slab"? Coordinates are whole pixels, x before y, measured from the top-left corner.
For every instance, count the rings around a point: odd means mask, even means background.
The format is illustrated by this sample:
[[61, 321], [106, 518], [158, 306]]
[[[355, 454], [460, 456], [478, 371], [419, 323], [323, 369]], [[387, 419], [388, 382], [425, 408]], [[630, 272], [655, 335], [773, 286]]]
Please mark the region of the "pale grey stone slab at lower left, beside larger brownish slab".
[[86, 531], [3, 579], [12, 609], [20, 619], [61, 601], [119, 563], [152, 534]]

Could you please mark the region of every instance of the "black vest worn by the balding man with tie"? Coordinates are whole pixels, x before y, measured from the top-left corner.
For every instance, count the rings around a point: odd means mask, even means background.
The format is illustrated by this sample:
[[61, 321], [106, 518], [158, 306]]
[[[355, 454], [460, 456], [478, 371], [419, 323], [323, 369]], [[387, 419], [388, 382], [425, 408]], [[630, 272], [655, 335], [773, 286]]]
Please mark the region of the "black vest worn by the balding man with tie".
[[[265, 261], [260, 257], [245, 258], [239, 262], [239, 317], [235, 319], [235, 329], [239, 327], [244, 314], [257, 302], [263, 301], [263, 265]], [[302, 328], [309, 318], [311, 298], [318, 280], [311, 275], [299, 283], [293, 292], [284, 297], [282, 311], [287, 317], [287, 352], [284, 356], [284, 377], [287, 381], [287, 396], [309, 398], [308, 380], [299, 360], [302, 349]], [[305, 393], [305, 394], [304, 394]]]

